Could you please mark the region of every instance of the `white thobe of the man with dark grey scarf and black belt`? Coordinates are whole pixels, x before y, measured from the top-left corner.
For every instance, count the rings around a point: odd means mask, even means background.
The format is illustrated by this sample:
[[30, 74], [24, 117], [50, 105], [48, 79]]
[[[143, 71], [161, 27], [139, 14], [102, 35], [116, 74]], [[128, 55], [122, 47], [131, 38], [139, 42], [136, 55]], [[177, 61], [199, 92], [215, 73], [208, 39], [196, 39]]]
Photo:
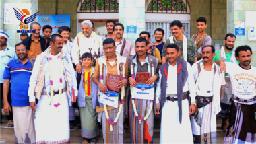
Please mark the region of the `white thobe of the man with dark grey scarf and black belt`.
[[[187, 63], [188, 77], [183, 87], [183, 92], [189, 90], [191, 102], [195, 102], [195, 81], [190, 64]], [[159, 81], [156, 87], [156, 103], [159, 103], [161, 96], [162, 74], [159, 71]], [[177, 94], [177, 65], [168, 67], [166, 94]], [[171, 81], [171, 82], [170, 82]], [[189, 101], [182, 101], [182, 122], [179, 122], [178, 101], [166, 101], [162, 108], [160, 143], [193, 143], [193, 135], [189, 120]]]

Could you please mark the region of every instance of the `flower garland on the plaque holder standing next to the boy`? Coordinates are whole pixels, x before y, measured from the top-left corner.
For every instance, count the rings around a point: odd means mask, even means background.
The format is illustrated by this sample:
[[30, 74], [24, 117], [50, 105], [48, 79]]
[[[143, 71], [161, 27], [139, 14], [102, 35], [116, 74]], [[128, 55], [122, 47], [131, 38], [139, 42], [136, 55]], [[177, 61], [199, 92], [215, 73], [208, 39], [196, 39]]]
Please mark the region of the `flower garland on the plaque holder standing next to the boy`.
[[[121, 63], [122, 64], [122, 80], [125, 79], [125, 63]], [[103, 81], [103, 63], [100, 63], [100, 83], [104, 84]], [[109, 124], [110, 124], [110, 131], [113, 131], [113, 125], [117, 124], [117, 120], [121, 114], [122, 111], [122, 107], [123, 107], [123, 98], [125, 97], [125, 86], [123, 86], [121, 88], [121, 102], [119, 105], [119, 111], [117, 113], [117, 117], [115, 118], [115, 120], [112, 122], [108, 116], [108, 110], [106, 108], [106, 104], [104, 104], [104, 112], [106, 114], [106, 119], [108, 120]]]

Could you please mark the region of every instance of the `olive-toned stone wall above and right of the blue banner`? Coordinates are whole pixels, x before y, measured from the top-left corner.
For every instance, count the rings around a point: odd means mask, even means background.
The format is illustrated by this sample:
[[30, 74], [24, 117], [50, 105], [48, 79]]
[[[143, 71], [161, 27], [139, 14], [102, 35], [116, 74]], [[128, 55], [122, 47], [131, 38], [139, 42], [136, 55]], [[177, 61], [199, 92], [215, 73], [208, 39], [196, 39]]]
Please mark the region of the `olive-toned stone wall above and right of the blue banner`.
[[79, 0], [38, 0], [39, 15], [70, 15], [71, 37], [76, 36], [76, 14]]

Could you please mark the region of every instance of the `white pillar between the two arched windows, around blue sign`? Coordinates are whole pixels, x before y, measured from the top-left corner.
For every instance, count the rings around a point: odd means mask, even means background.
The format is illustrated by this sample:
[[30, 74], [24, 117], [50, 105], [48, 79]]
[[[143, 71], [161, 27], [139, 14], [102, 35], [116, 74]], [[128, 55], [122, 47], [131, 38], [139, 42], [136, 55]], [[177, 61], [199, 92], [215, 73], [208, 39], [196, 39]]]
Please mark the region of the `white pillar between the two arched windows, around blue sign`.
[[[137, 19], [137, 33], [127, 34], [127, 20]], [[125, 27], [123, 38], [131, 41], [133, 46], [139, 33], [145, 30], [145, 0], [119, 0], [119, 22]]]

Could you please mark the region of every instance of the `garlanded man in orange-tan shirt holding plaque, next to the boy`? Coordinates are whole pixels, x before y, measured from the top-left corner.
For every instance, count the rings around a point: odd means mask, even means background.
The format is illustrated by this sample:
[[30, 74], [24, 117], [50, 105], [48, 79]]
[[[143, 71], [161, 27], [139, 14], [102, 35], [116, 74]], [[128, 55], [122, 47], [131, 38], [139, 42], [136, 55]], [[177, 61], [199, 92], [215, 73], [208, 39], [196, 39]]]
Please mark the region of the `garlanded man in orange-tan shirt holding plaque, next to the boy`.
[[[107, 79], [107, 75], [122, 75], [122, 80], [117, 85], [110, 85], [111, 88], [121, 89], [119, 92], [116, 92], [118, 93], [117, 105], [119, 106], [115, 108], [104, 104], [102, 106], [104, 110], [98, 113], [98, 122], [102, 122], [104, 143], [123, 143], [123, 105], [125, 102], [125, 85], [127, 85], [128, 77], [127, 61], [126, 57], [122, 57], [115, 52], [117, 46], [115, 46], [115, 41], [112, 38], [106, 38], [103, 41], [103, 47], [105, 55], [97, 59], [92, 81], [98, 85], [100, 92], [106, 93], [108, 90], [106, 83], [111, 80], [113, 81], [113, 79]], [[98, 107], [96, 111], [97, 109]]]

